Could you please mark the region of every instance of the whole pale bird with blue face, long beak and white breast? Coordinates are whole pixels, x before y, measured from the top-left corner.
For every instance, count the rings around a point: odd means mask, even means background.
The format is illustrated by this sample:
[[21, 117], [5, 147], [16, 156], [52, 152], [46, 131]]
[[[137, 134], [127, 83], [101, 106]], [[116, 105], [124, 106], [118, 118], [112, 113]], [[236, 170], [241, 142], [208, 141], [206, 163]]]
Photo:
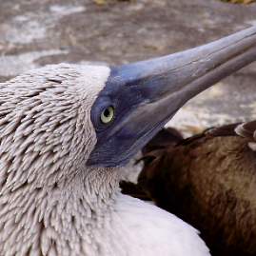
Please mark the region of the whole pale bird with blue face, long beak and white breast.
[[1, 255], [207, 256], [198, 231], [122, 195], [121, 168], [187, 100], [256, 60], [256, 27], [118, 67], [0, 85]]

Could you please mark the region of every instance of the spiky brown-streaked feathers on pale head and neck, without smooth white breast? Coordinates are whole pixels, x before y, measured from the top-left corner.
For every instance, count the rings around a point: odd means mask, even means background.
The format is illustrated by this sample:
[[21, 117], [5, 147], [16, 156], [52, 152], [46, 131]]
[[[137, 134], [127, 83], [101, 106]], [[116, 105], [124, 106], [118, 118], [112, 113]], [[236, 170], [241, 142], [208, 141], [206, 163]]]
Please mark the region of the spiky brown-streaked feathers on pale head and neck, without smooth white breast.
[[[95, 143], [85, 102], [92, 104], [99, 91], [85, 89], [85, 82], [104, 85], [93, 69], [61, 65], [52, 73], [49, 66], [0, 86], [0, 251], [6, 256], [93, 255], [89, 230], [109, 218], [104, 212], [117, 187], [110, 173], [85, 168]], [[108, 68], [102, 71], [108, 77]]]

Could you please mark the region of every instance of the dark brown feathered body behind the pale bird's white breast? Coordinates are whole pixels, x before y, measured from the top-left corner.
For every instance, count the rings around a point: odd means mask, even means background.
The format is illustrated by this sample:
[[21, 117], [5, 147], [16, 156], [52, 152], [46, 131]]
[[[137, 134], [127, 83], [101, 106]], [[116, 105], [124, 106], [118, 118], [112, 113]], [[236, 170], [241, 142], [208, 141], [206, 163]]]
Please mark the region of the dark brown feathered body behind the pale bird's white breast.
[[176, 144], [167, 136], [163, 141], [161, 131], [161, 140], [156, 136], [144, 155], [138, 187], [157, 206], [198, 228], [212, 255], [256, 253], [255, 130], [252, 121], [185, 140], [173, 134], [180, 140]]

